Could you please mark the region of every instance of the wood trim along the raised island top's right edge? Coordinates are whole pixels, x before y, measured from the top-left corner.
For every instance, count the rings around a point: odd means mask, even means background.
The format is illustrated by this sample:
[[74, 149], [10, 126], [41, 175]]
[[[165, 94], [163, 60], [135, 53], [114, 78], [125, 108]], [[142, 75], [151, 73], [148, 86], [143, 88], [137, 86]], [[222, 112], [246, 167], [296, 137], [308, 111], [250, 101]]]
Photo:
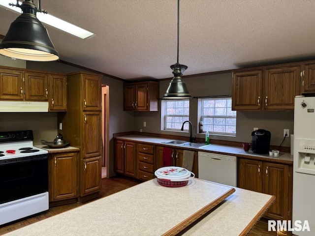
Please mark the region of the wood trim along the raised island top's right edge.
[[[202, 179], [201, 179], [202, 180]], [[206, 180], [202, 180], [206, 181]], [[208, 182], [208, 181], [206, 181]], [[219, 198], [208, 204], [207, 206], [201, 208], [200, 210], [196, 211], [194, 214], [190, 215], [187, 219], [164, 233], [162, 236], [175, 236], [181, 231], [183, 231], [185, 228], [189, 227], [192, 223], [194, 223], [196, 220], [198, 220], [200, 217], [205, 215], [208, 211], [210, 211], [212, 208], [219, 205], [225, 198], [230, 196], [232, 193], [235, 192], [234, 188], [230, 188], [228, 191], [226, 191], [224, 194], [222, 194]]]

